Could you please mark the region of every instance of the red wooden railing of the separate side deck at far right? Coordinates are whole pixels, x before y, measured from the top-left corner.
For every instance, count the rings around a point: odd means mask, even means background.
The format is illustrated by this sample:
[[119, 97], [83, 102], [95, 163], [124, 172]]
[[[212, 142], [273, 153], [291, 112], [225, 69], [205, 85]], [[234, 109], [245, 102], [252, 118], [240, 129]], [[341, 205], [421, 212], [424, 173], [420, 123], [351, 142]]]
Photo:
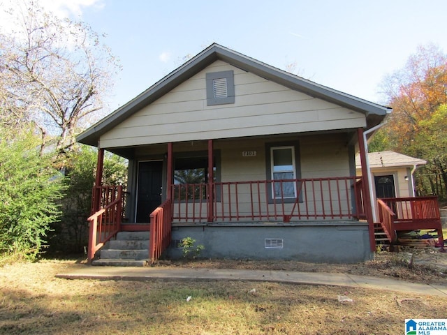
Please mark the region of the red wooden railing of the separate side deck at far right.
[[[388, 229], [390, 241], [395, 241], [395, 231], [435, 229], [438, 232], [439, 244], [444, 246], [437, 197], [383, 198], [378, 202], [379, 216], [383, 210], [381, 220], [391, 222], [389, 226], [384, 227]], [[384, 205], [388, 209], [384, 209]], [[385, 211], [388, 212], [388, 218]]]

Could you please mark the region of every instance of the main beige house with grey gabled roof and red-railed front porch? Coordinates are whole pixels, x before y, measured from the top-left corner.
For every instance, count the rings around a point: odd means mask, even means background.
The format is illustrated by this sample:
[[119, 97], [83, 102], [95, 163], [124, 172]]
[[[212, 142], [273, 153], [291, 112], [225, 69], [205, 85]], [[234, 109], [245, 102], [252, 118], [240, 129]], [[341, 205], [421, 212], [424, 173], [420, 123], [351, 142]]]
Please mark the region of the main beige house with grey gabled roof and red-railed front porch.
[[[179, 256], [184, 237], [207, 258], [369, 260], [356, 152], [366, 175], [390, 111], [212, 44], [78, 136], [99, 149], [89, 258], [150, 229], [151, 260]], [[101, 184], [105, 150], [129, 159], [125, 192]]]

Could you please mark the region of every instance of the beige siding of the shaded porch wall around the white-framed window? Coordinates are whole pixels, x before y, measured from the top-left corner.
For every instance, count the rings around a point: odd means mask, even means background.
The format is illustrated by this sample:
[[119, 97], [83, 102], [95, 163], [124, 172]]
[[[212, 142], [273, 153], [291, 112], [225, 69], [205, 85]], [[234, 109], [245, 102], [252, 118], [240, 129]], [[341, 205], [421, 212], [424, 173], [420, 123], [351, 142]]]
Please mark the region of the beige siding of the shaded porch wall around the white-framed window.
[[[300, 145], [300, 157], [298, 158], [297, 167], [301, 170], [302, 179], [318, 179], [326, 177], [349, 177], [349, 151], [346, 145], [346, 140], [343, 134], [326, 134], [317, 136], [300, 136], [300, 137], [279, 137], [274, 140], [267, 137], [256, 140], [218, 140], [214, 142], [214, 149], [219, 149], [221, 152], [221, 181], [228, 182], [244, 182], [244, 181], [265, 181], [271, 179], [266, 175], [266, 156], [270, 152], [265, 152], [266, 144], [280, 142], [281, 144], [295, 144]], [[175, 151], [191, 151], [191, 148], [203, 150], [206, 148], [206, 142], [193, 142], [191, 144], [175, 144]], [[243, 151], [256, 151], [256, 156], [242, 156]], [[259, 186], [258, 186], [259, 185]], [[221, 196], [221, 202], [217, 203], [217, 216], [222, 212], [230, 212], [228, 202], [232, 202], [231, 212], [235, 215], [235, 200], [237, 195], [238, 209], [240, 216], [251, 216], [251, 202], [254, 203], [254, 212], [259, 211], [266, 214], [267, 210], [273, 214], [274, 204], [269, 204], [265, 207], [266, 188], [265, 184], [238, 184], [237, 193], [236, 186], [232, 184], [224, 184]], [[268, 187], [272, 187], [269, 185]], [[314, 193], [316, 196], [314, 197]], [[323, 193], [323, 197], [321, 194]], [[308, 211], [310, 214], [309, 220], [315, 219], [312, 215], [318, 215], [325, 211], [330, 211], [331, 206], [340, 206], [344, 211], [351, 208], [351, 184], [350, 181], [307, 181], [306, 188], [302, 186], [302, 199], [305, 202], [297, 204], [294, 214], [304, 213]], [[332, 199], [332, 204], [328, 201]], [[339, 201], [338, 201], [339, 199]], [[261, 202], [259, 202], [261, 200]], [[196, 204], [180, 204], [175, 207], [177, 212], [193, 211], [198, 214], [201, 212], [205, 217], [206, 207], [200, 203]], [[293, 204], [284, 204], [284, 211], [286, 214], [291, 214]], [[282, 211], [282, 204], [277, 204], [277, 211]], [[278, 221], [283, 219], [282, 215], [277, 217]], [[336, 219], [336, 218], [335, 218]], [[256, 220], [256, 218], [255, 218]], [[261, 218], [259, 218], [261, 220]]]

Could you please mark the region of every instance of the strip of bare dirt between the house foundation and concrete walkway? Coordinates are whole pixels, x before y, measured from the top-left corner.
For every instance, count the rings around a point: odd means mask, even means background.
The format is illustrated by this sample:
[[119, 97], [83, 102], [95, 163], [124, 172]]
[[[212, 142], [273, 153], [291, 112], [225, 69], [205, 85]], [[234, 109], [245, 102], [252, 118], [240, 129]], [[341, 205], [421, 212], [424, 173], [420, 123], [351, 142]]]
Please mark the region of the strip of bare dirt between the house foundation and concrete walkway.
[[414, 283], [447, 285], [447, 253], [439, 248], [401, 248], [399, 253], [376, 253], [374, 260], [356, 264], [327, 264], [294, 260], [160, 260], [156, 267], [256, 269], [356, 274], [393, 277]]

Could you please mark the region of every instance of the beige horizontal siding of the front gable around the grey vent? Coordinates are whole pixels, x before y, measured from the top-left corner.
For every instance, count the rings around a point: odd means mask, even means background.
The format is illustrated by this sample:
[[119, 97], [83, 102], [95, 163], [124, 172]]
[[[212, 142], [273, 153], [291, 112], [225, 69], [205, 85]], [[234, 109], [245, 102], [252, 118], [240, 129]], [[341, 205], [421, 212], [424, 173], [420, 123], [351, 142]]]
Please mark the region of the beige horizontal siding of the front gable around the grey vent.
[[[207, 106], [205, 75], [235, 73], [235, 103]], [[101, 147], [126, 147], [365, 126], [365, 115], [312, 98], [216, 61], [101, 136]]]

